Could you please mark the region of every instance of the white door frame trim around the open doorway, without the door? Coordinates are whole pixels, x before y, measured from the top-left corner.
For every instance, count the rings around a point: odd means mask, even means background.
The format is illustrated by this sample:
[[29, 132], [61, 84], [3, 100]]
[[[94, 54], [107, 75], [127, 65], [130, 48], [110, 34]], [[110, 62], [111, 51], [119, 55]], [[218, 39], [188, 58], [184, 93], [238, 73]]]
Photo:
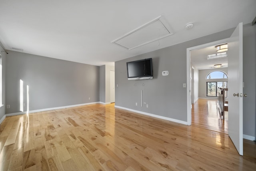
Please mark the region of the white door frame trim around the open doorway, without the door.
[[193, 50], [207, 48], [209, 46], [214, 46], [217, 44], [228, 43], [228, 39], [229, 38], [187, 48], [187, 125], [191, 125], [191, 53], [190, 52]]

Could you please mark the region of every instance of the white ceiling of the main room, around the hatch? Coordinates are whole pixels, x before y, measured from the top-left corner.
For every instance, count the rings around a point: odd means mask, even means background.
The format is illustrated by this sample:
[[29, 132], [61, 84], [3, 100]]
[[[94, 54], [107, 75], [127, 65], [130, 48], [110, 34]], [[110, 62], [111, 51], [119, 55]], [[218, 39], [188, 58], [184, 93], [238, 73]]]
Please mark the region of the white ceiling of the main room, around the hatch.
[[[0, 42], [101, 66], [250, 23], [255, 7], [256, 0], [1, 0]], [[160, 15], [174, 35], [133, 50], [111, 43]]]

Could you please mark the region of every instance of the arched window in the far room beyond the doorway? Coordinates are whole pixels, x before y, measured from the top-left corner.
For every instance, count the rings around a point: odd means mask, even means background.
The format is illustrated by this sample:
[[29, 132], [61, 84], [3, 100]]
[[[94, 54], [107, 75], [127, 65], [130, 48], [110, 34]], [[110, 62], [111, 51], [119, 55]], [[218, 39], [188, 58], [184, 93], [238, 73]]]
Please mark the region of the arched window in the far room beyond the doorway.
[[[213, 71], [206, 76], [206, 96], [207, 97], [218, 97], [217, 89], [228, 88], [227, 81], [216, 81], [212, 79], [227, 79], [228, 76], [223, 71]], [[212, 80], [212, 81], [211, 81]]]

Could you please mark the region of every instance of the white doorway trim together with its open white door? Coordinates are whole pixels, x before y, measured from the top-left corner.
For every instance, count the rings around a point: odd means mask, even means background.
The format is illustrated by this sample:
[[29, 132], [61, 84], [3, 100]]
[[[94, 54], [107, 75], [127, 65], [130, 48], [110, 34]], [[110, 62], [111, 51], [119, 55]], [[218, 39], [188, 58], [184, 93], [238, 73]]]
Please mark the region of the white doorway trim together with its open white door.
[[214, 44], [228, 44], [229, 58], [228, 62], [228, 82], [231, 85], [229, 91], [234, 93], [229, 96], [229, 127], [228, 135], [238, 153], [243, 155], [243, 23], [239, 23], [230, 38], [219, 40], [192, 48], [187, 48], [187, 119], [188, 125], [191, 125], [191, 52], [200, 48], [213, 46]]

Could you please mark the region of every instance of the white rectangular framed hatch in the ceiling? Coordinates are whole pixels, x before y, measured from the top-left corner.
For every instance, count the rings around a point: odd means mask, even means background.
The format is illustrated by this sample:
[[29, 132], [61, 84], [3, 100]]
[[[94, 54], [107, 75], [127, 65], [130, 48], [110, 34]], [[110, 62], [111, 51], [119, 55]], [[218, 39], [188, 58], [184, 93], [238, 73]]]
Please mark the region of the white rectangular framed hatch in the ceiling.
[[127, 50], [160, 40], [174, 34], [162, 16], [136, 28], [111, 43]]

